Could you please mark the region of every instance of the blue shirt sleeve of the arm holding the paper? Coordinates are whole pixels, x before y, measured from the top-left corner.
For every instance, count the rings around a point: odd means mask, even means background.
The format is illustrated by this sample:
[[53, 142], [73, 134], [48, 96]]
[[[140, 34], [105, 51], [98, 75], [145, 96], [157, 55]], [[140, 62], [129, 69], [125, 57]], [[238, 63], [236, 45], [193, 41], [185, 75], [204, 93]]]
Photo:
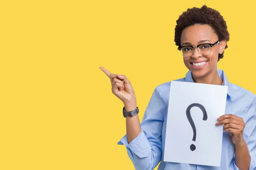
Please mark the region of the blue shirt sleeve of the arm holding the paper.
[[[244, 119], [244, 140], [250, 153], [249, 170], [256, 170], [256, 97], [254, 96]], [[234, 169], [239, 170], [234, 160]]]

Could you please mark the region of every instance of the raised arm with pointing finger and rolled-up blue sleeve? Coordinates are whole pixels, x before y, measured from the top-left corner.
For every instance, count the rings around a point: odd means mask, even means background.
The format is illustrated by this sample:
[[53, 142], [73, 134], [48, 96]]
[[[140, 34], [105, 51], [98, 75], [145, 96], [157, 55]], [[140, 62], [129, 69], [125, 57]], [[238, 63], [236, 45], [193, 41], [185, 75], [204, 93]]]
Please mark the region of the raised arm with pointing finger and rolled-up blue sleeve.
[[[125, 110], [134, 110], [137, 105], [134, 89], [125, 75], [111, 74], [100, 69], [110, 78], [112, 93], [125, 104]], [[118, 144], [124, 144], [128, 155], [137, 170], [152, 170], [161, 160], [163, 102], [155, 88], [140, 126], [139, 116], [126, 118], [125, 135]]]

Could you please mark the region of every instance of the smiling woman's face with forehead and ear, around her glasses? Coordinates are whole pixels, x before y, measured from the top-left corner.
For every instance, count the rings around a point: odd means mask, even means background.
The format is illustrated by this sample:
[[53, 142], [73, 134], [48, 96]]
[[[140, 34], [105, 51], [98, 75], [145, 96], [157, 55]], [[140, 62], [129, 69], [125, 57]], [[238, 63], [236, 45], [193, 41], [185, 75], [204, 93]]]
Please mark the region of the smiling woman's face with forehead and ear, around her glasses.
[[[180, 37], [181, 46], [198, 45], [202, 43], [215, 43], [218, 41], [217, 34], [209, 25], [193, 25], [185, 28]], [[206, 77], [212, 71], [217, 70], [218, 54], [222, 54], [226, 46], [226, 40], [212, 46], [211, 53], [203, 56], [198, 52], [198, 48], [194, 48], [191, 57], [184, 57], [184, 64], [192, 72], [194, 77]]]

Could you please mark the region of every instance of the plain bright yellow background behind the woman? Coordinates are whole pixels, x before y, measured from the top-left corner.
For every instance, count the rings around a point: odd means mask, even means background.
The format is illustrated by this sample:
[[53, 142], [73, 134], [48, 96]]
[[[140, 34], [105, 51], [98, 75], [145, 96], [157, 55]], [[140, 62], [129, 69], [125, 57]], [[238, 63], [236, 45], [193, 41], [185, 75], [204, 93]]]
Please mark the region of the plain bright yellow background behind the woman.
[[253, 93], [255, 1], [1, 0], [0, 169], [131, 170], [122, 102], [99, 69], [130, 79], [140, 120], [154, 88], [188, 71], [178, 16], [217, 9], [230, 41], [218, 68]]

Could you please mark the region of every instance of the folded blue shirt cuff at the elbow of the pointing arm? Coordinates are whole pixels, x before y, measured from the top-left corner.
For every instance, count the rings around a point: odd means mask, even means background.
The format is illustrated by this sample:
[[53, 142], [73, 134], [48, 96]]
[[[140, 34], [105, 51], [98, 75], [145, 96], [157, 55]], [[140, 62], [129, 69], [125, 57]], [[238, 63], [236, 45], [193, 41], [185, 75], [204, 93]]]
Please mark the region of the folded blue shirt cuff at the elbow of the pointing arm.
[[143, 130], [141, 130], [140, 134], [131, 143], [128, 144], [127, 136], [125, 135], [117, 144], [124, 144], [125, 147], [128, 147], [132, 153], [140, 158], [147, 157], [151, 153], [151, 145]]

